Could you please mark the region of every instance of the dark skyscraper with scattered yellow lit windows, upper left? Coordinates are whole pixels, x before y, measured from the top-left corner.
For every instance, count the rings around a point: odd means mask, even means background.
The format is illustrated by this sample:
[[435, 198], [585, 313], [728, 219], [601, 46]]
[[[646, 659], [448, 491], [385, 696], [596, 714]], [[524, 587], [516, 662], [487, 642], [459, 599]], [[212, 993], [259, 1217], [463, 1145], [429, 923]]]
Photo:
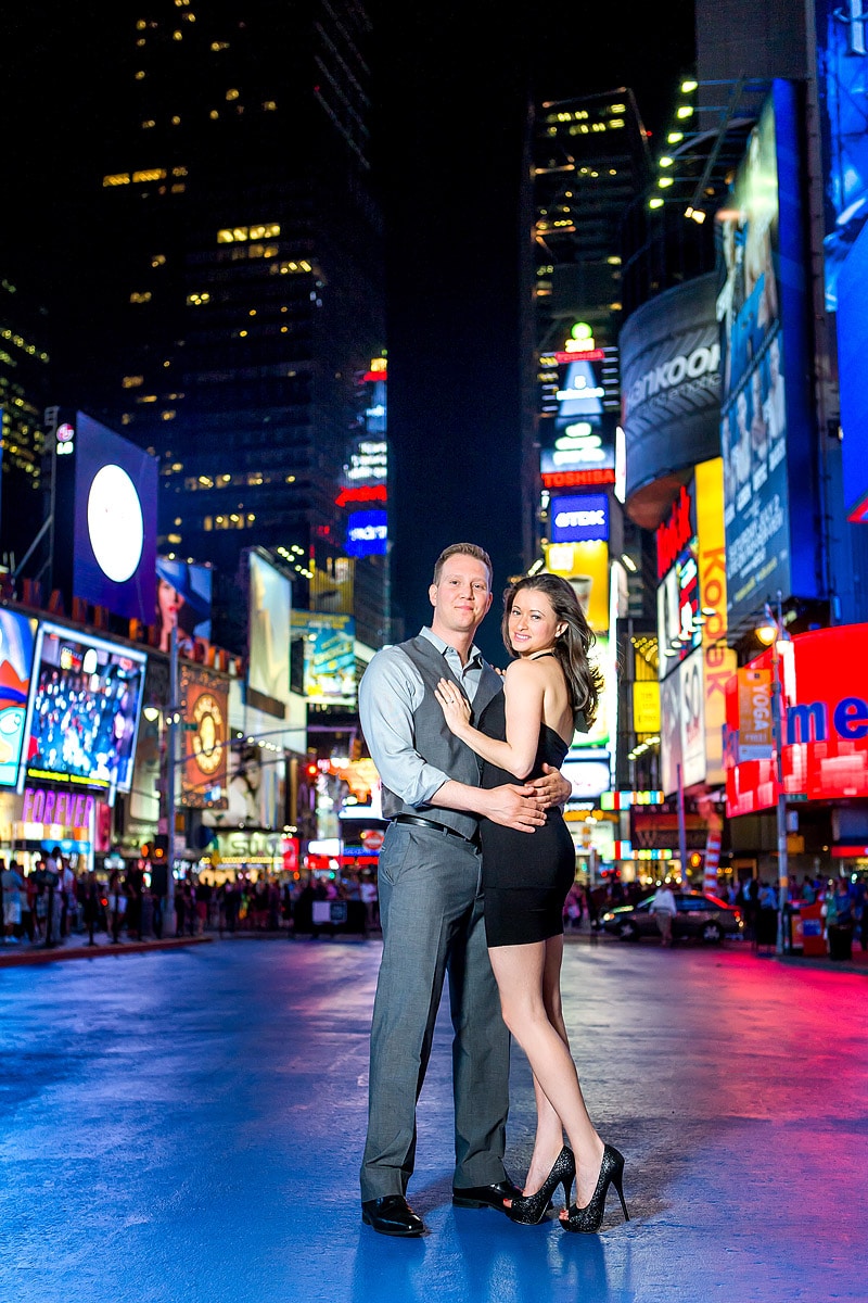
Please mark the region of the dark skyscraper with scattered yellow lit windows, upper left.
[[115, 375], [95, 377], [99, 414], [161, 459], [165, 550], [211, 562], [232, 593], [242, 549], [282, 549], [303, 606], [345, 555], [357, 378], [385, 344], [368, 14], [141, 14], [102, 177]]

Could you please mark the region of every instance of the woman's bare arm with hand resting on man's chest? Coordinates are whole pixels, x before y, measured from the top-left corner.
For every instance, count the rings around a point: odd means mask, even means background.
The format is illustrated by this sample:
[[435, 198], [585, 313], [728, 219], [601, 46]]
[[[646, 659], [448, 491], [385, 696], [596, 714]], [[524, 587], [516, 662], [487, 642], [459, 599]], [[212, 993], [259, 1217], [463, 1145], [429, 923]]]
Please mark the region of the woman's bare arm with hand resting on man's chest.
[[545, 676], [531, 661], [513, 661], [504, 678], [506, 697], [506, 741], [487, 737], [470, 724], [470, 706], [449, 679], [441, 679], [435, 696], [449, 728], [471, 751], [515, 778], [527, 778], [534, 769], [543, 723]]

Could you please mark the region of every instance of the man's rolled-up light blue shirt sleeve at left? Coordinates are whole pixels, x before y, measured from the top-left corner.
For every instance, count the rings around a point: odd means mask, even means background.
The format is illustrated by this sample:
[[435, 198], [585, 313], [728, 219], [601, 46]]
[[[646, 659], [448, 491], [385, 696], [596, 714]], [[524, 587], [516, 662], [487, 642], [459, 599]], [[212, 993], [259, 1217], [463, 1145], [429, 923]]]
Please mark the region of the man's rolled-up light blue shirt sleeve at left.
[[413, 713], [424, 688], [403, 652], [384, 648], [359, 684], [359, 718], [371, 758], [385, 787], [407, 805], [426, 805], [449, 774], [428, 765], [414, 744]]

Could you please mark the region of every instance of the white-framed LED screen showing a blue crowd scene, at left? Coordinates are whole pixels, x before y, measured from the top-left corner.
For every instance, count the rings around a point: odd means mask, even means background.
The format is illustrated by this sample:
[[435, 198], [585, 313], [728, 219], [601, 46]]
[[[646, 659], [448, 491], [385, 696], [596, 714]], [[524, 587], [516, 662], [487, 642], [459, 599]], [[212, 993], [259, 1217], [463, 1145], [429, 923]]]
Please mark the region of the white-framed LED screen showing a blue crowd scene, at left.
[[26, 724], [30, 783], [129, 791], [147, 657], [42, 624]]

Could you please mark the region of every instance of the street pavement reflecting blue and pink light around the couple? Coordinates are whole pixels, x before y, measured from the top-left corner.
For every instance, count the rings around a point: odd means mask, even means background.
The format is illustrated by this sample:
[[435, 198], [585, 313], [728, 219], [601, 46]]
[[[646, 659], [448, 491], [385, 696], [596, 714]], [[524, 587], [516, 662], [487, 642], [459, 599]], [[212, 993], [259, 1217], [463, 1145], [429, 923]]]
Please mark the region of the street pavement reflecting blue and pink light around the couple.
[[[566, 947], [565, 1012], [626, 1156], [600, 1235], [450, 1204], [445, 1007], [410, 1200], [363, 1227], [379, 939], [215, 939], [0, 971], [0, 1294], [16, 1303], [806, 1303], [868, 1298], [864, 973]], [[532, 1136], [513, 1063], [508, 1166]]]

